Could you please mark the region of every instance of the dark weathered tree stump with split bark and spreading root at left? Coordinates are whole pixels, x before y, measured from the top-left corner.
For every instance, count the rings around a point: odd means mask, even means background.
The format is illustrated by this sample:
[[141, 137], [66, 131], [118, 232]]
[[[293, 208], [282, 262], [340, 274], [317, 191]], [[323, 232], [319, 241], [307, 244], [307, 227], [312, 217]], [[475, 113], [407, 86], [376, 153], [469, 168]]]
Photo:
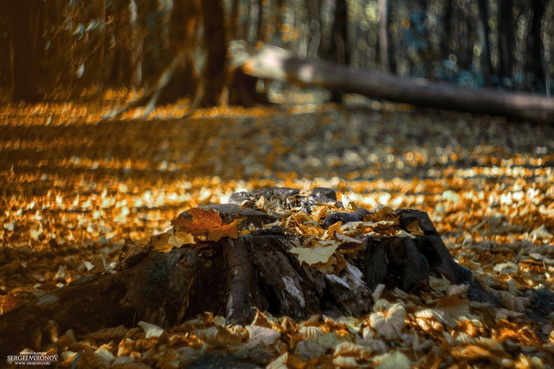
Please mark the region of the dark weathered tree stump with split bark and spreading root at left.
[[[311, 314], [360, 316], [370, 311], [371, 293], [378, 285], [412, 291], [429, 276], [469, 285], [470, 298], [497, 303], [468, 269], [454, 261], [427, 213], [396, 210], [397, 227], [405, 231], [403, 235], [353, 237], [357, 252], [339, 255], [343, 265], [337, 273], [299, 262], [291, 251], [303, 237], [271, 226], [276, 214], [243, 207], [253, 207], [261, 198], [280, 209], [307, 213], [319, 204], [343, 206], [327, 188], [236, 193], [231, 197], [233, 204], [206, 208], [217, 211], [226, 223], [240, 213], [239, 228], [250, 229], [248, 234], [185, 245], [168, 253], [152, 251], [156, 236], [145, 246], [127, 239], [116, 273], [97, 272], [1, 315], [0, 348], [6, 354], [40, 348], [51, 321], [60, 332], [72, 328], [86, 334], [138, 321], [169, 327], [202, 312], [243, 324], [252, 320], [254, 308], [294, 319]], [[360, 222], [368, 214], [364, 209], [332, 213], [323, 226]], [[419, 226], [415, 236], [408, 234], [414, 222]]]

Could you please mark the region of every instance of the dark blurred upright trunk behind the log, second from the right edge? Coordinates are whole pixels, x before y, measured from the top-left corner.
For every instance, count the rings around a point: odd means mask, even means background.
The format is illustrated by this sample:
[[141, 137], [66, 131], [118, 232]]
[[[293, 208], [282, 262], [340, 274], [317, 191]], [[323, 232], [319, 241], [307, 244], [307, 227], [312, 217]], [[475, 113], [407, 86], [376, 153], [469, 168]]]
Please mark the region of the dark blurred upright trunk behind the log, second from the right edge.
[[514, 56], [512, 51], [514, 42], [514, 16], [512, 0], [500, 0], [499, 13], [499, 74], [501, 78], [504, 80], [509, 79], [511, 83], [514, 69]]

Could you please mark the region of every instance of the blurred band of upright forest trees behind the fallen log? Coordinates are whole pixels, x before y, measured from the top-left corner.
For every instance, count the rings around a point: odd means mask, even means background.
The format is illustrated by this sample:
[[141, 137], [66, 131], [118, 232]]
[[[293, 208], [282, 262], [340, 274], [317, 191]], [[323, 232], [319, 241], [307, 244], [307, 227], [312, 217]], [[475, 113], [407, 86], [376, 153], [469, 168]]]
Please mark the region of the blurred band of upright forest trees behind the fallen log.
[[148, 91], [170, 71], [159, 102], [253, 105], [263, 99], [225, 92], [227, 49], [263, 42], [355, 68], [550, 94], [553, 15], [548, 0], [2, 1], [0, 86], [15, 100], [63, 100]]

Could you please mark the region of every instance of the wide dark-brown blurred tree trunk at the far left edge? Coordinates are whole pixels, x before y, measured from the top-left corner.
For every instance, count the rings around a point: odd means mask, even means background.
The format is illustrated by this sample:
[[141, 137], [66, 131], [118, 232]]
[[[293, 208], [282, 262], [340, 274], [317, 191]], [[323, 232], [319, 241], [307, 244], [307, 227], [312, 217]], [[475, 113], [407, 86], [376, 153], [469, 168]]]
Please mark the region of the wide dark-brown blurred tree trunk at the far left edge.
[[12, 98], [37, 102], [44, 55], [44, 1], [9, 1], [10, 47], [12, 54]]

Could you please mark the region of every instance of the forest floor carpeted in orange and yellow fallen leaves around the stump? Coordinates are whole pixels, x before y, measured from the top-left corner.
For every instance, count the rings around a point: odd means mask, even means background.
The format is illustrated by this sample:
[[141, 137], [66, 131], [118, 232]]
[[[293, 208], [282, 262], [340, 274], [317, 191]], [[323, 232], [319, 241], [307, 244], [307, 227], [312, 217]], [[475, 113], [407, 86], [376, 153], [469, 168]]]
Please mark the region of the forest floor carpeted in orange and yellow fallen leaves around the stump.
[[[226, 327], [222, 338], [220, 317], [206, 315], [172, 327], [166, 341], [148, 341], [144, 327], [92, 338], [60, 332], [71, 344], [44, 350], [65, 353], [64, 365], [84, 352], [84, 362], [106, 367], [194, 366], [214, 352], [222, 360], [215, 367], [554, 366], [554, 315], [529, 318], [530, 300], [519, 293], [554, 281], [554, 125], [374, 105], [199, 109], [186, 118], [157, 109], [148, 119], [129, 111], [103, 123], [107, 102], [4, 105], [2, 311], [86, 276], [84, 261], [114, 264], [125, 237], [166, 231], [188, 208], [224, 203], [240, 190], [323, 186], [368, 209], [427, 211], [456, 260], [506, 289], [505, 309], [458, 298], [467, 318], [450, 326], [434, 324], [436, 316], [418, 321], [406, 307], [396, 339], [379, 336], [368, 316], [290, 322], [261, 312], [249, 327], [278, 332], [276, 339], [240, 327]], [[400, 291], [386, 298], [409, 300]]]

